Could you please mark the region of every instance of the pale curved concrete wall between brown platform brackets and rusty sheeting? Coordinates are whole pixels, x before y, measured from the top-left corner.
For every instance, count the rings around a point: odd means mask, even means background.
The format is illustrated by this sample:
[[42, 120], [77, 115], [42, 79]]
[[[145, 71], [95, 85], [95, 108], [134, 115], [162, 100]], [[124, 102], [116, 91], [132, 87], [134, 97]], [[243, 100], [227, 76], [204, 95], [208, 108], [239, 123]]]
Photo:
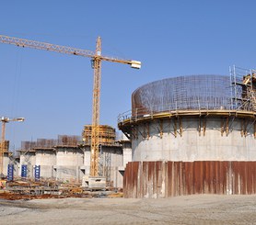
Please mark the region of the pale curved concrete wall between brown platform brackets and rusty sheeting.
[[138, 124], [137, 138], [132, 140], [133, 161], [256, 161], [253, 120], [229, 118], [228, 132], [222, 132], [227, 122], [223, 119], [207, 117], [205, 134], [202, 125], [199, 132], [199, 118], [180, 118], [181, 132], [177, 121], [175, 130], [174, 121], [165, 119], [162, 137], [159, 120], [152, 120], [148, 139], [143, 135], [145, 124]]

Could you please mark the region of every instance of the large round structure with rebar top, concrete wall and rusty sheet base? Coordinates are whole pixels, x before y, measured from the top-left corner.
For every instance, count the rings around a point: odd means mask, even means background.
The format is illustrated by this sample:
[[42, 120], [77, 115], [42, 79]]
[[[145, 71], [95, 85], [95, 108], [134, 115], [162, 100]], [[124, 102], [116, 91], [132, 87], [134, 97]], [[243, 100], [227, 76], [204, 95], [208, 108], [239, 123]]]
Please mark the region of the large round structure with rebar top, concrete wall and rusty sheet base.
[[[256, 73], [255, 73], [256, 74]], [[124, 197], [256, 194], [256, 76], [145, 84], [119, 128], [132, 141]]]

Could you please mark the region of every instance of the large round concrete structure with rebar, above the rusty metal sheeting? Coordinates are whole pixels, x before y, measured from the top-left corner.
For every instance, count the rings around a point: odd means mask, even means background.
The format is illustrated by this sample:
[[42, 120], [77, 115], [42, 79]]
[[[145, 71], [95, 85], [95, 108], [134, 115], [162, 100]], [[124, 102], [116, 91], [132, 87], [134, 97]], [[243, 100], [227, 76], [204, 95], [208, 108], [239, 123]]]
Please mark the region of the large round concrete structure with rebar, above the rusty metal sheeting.
[[192, 75], [136, 89], [119, 122], [133, 161], [255, 161], [255, 111], [238, 108], [230, 78]]

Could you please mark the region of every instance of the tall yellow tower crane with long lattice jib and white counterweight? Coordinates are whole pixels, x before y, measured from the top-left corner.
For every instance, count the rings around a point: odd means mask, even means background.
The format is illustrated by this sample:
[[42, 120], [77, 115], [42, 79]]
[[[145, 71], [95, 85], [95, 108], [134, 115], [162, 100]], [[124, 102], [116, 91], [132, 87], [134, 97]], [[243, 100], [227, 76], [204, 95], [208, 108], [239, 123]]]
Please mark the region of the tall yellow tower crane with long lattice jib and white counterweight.
[[99, 98], [101, 81], [101, 61], [120, 62], [129, 64], [134, 69], [141, 68], [141, 62], [133, 60], [122, 60], [118, 58], [101, 55], [101, 39], [97, 39], [96, 51], [80, 50], [72, 47], [55, 45], [36, 40], [18, 39], [0, 35], [0, 42], [13, 44], [20, 47], [29, 47], [32, 49], [57, 51], [65, 54], [79, 55], [91, 58], [92, 68], [94, 70], [93, 82], [93, 103], [92, 103], [92, 133], [91, 133], [91, 153], [90, 153], [90, 175], [99, 175]]

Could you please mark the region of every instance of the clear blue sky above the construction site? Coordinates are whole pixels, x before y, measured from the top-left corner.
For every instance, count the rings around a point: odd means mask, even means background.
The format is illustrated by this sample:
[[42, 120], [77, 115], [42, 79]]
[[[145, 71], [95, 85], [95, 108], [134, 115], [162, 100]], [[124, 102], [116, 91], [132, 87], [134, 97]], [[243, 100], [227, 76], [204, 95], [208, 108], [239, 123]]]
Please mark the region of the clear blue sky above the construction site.
[[[228, 74], [255, 68], [256, 1], [44, 0], [1, 1], [0, 34], [95, 50], [143, 63], [133, 70], [102, 63], [100, 123], [117, 127], [140, 85], [178, 75]], [[0, 116], [6, 139], [80, 135], [91, 123], [93, 71], [89, 58], [0, 44]]]

